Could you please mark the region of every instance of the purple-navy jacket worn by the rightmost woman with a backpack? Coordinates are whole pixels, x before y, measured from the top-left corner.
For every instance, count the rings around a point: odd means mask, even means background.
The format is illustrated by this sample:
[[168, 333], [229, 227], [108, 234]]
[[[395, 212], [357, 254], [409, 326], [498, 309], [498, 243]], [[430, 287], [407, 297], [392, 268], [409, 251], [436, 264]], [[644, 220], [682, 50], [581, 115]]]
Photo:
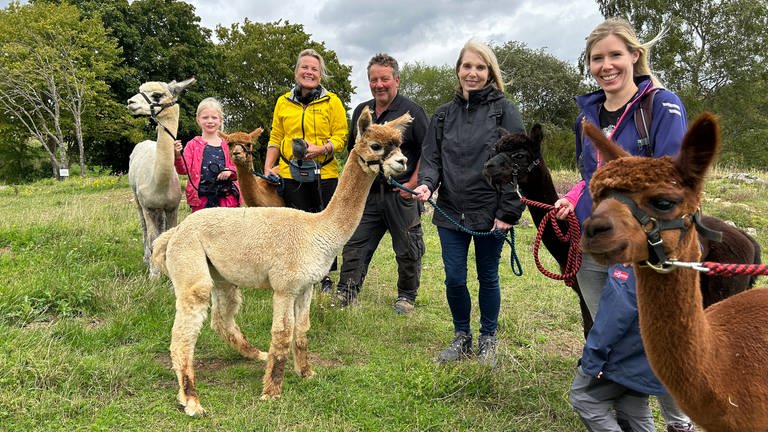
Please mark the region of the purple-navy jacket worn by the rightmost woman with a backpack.
[[[629, 102], [624, 114], [619, 118], [611, 139], [618, 143], [624, 150], [633, 155], [644, 156], [642, 149], [637, 145], [640, 134], [635, 127], [634, 113], [639, 107], [639, 101], [645, 98], [655, 88], [648, 76], [635, 77], [637, 94]], [[581, 178], [589, 185], [592, 174], [598, 168], [597, 150], [592, 142], [581, 135], [581, 121], [586, 118], [593, 124], [600, 126], [600, 108], [605, 102], [605, 92], [598, 90], [593, 93], [577, 96], [576, 103], [581, 109], [581, 114], [576, 118], [576, 162], [581, 172]], [[653, 157], [673, 156], [680, 151], [680, 144], [688, 128], [685, 107], [676, 94], [669, 90], [658, 89], [653, 97], [652, 122], [649, 125]], [[576, 203], [576, 217], [584, 222], [592, 212], [592, 198], [585, 187]]]

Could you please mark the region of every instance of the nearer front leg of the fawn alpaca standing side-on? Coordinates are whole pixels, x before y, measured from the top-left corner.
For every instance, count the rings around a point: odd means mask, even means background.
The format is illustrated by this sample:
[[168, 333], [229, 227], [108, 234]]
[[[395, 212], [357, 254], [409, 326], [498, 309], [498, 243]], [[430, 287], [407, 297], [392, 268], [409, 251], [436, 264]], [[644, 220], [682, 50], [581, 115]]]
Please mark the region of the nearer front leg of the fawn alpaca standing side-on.
[[295, 297], [275, 289], [272, 295], [272, 342], [267, 356], [267, 367], [264, 369], [264, 388], [261, 400], [277, 399], [282, 394], [285, 364], [288, 361], [288, 351], [291, 345], [294, 317]]

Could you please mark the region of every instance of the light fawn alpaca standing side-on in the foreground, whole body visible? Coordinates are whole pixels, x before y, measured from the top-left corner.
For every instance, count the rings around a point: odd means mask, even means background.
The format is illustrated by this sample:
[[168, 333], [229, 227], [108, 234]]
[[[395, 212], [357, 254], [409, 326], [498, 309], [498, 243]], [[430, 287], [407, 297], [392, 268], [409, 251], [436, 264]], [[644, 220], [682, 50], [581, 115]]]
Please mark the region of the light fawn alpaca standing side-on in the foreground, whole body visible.
[[[176, 292], [170, 350], [177, 399], [188, 415], [205, 413], [195, 389], [193, 356], [209, 301], [211, 327], [244, 356], [266, 360], [262, 400], [280, 397], [289, 348], [296, 372], [304, 378], [313, 375], [307, 362], [312, 286], [357, 228], [374, 178], [405, 171], [399, 146], [411, 120], [406, 113], [373, 124], [370, 111], [363, 110], [338, 188], [319, 213], [287, 207], [205, 209], [157, 239], [152, 259]], [[268, 354], [253, 347], [235, 323], [242, 301], [239, 286], [273, 291]]]

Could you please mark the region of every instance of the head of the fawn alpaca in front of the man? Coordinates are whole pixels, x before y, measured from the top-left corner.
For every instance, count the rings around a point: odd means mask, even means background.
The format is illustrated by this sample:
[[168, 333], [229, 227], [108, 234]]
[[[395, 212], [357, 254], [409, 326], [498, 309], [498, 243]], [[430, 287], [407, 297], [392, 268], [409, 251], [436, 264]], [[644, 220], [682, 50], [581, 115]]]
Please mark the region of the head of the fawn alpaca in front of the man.
[[365, 172], [376, 175], [383, 170], [387, 178], [405, 172], [408, 159], [400, 152], [400, 144], [403, 131], [412, 120], [413, 117], [405, 113], [384, 124], [375, 124], [368, 107], [363, 108], [357, 120], [357, 141], [353, 151]]

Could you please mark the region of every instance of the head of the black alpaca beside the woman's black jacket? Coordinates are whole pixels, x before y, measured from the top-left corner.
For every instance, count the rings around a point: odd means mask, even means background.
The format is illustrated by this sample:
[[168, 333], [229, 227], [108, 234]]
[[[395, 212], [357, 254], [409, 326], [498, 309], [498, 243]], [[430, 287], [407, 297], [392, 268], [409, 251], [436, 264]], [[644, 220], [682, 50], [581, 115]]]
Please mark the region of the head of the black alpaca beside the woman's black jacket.
[[538, 123], [533, 125], [530, 136], [502, 129], [495, 154], [483, 166], [483, 176], [491, 184], [525, 182], [528, 173], [541, 163], [543, 140], [544, 133]]

